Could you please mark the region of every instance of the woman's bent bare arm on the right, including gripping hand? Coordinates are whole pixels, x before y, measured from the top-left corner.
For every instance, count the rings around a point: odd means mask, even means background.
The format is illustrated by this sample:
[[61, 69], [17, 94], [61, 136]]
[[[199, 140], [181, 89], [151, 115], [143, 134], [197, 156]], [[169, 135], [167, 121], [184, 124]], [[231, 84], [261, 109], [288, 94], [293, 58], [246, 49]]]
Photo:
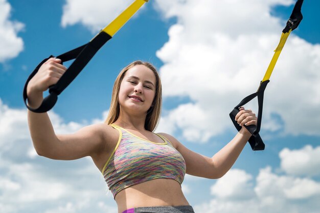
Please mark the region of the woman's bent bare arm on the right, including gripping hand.
[[257, 125], [257, 117], [251, 110], [240, 108], [240, 112], [236, 116], [236, 121], [242, 126], [241, 130], [227, 145], [211, 158], [191, 151], [176, 139], [169, 136], [170, 140], [174, 141], [176, 149], [185, 158], [187, 174], [217, 179], [230, 170], [243, 150], [246, 142], [251, 137], [250, 132], [243, 127], [243, 125]]

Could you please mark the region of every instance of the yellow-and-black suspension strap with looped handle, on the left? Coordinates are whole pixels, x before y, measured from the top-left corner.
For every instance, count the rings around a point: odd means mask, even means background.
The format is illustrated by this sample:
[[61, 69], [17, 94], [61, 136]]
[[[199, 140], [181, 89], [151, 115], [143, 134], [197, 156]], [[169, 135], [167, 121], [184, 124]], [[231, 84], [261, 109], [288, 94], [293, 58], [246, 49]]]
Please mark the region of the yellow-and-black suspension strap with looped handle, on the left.
[[47, 59], [44, 59], [30, 74], [27, 79], [24, 88], [24, 100], [27, 108], [35, 113], [44, 113], [53, 108], [57, 102], [58, 95], [76, 78], [76, 76], [81, 72], [85, 65], [94, 57], [96, 52], [109, 40], [117, 31], [138, 11], [146, 2], [149, 0], [135, 0], [127, 9], [125, 9], [115, 20], [113, 20], [109, 25], [107, 25], [103, 30], [101, 30], [92, 40], [88, 43], [65, 52], [60, 56], [57, 56], [58, 59], [61, 59], [62, 62], [70, 61], [76, 59], [70, 67], [65, 71], [61, 76], [57, 84], [49, 87], [49, 95], [45, 97], [38, 109], [32, 109], [27, 105], [27, 85], [30, 79], [38, 72], [40, 66], [47, 61], [48, 59], [54, 57], [50, 56]]

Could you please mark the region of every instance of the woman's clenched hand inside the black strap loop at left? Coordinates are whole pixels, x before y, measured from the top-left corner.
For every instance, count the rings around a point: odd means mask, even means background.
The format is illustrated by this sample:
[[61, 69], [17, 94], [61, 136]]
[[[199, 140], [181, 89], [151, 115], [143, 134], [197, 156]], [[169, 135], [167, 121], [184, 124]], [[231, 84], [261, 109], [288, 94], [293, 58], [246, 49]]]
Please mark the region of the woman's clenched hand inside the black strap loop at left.
[[61, 64], [60, 59], [48, 59], [41, 65], [38, 72], [28, 83], [27, 96], [42, 94], [42, 92], [48, 90], [51, 85], [55, 85], [59, 81], [66, 69], [67, 68]]

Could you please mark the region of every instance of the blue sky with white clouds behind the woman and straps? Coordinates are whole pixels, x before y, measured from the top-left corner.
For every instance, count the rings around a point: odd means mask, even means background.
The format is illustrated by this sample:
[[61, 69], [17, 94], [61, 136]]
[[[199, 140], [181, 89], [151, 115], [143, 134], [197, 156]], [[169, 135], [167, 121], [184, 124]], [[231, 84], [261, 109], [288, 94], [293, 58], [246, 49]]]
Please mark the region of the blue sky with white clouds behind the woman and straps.
[[[132, 1], [0, 0], [0, 212], [110, 212], [117, 206], [89, 157], [37, 156], [22, 89], [50, 55], [88, 42]], [[153, 63], [163, 81], [157, 131], [212, 156], [236, 134], [228, 113], [255, 92], [291, 14], [292, 0], [150, 0], [59, 96], [57, 134], [103, 122], [118, 72]], [[218, 180], [186, 175], [196, 212], [318, 212], [320, 28], [318, 1], [282, 51], [265, 91], [261, 137]], [[65, 65], [70, 65], [66, 63]], [[246, 108], [257, 112], [256, 101]]]

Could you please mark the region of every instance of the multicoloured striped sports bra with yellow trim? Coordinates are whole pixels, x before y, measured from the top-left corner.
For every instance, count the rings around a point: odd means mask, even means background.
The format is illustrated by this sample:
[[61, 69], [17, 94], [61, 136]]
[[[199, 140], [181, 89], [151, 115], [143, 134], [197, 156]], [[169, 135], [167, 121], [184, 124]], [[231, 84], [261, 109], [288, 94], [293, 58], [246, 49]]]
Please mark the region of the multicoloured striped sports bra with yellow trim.
[[163, 143], [154, 143], [135, 136], [120, 126], [111, 126], [118, 129], [120, 136], [102, 174], [113, 198], [125, 188], [157, 178], [182, 183], [186, 174], [186, 162], [168, 139], [156, 134]]

